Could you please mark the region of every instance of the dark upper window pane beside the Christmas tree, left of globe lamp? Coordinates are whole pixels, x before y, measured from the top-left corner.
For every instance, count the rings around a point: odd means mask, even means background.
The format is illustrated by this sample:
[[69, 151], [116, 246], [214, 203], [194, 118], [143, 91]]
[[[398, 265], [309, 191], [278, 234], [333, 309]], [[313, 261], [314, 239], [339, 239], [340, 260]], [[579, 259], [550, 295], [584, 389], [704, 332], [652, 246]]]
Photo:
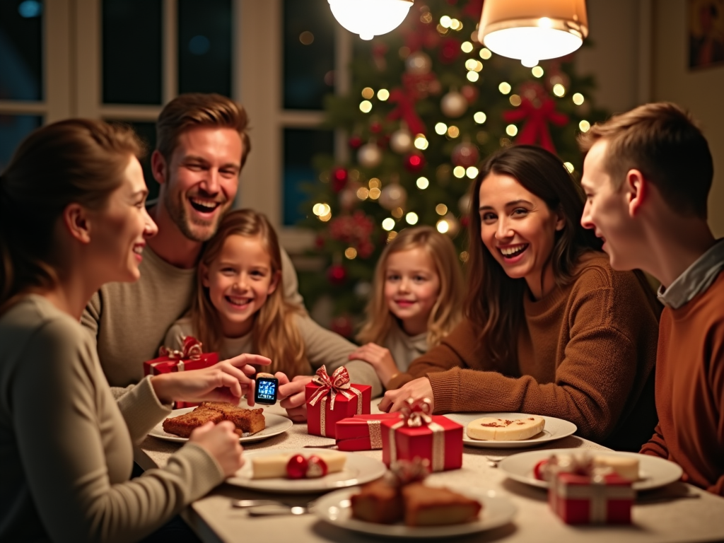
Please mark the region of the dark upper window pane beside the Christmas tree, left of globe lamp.
[[284, 1], [284, 108], [324, 109], [334, 92], [334, 20], [327, 0]]

